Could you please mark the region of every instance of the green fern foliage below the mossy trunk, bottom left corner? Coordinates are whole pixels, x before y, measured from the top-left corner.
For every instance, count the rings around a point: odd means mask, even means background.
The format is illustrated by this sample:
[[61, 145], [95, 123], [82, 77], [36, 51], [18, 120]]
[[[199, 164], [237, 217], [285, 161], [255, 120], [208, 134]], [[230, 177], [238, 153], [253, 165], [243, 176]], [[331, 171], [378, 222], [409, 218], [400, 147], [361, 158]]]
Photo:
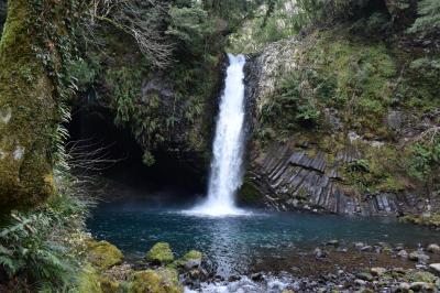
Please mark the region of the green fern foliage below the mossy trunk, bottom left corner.
[[72, 287], [81, 270], [88, 204], [72, 195], [69, 181], [63, 185], [62, 193], [37, 209], [12, 211], [2, 219], [0, 271], [14, 291]]

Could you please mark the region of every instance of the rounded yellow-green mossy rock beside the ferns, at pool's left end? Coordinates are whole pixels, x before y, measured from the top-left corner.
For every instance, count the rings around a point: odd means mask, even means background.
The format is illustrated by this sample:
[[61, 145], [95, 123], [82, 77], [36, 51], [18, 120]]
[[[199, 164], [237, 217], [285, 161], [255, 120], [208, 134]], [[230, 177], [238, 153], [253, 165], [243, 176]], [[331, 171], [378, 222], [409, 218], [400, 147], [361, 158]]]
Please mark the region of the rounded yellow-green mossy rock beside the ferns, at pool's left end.
[[107, 241], [92, 240], [87, 243], [87, 248], [88, 260], [100, 270], [109, 269], [123, 260], [122, 252]]

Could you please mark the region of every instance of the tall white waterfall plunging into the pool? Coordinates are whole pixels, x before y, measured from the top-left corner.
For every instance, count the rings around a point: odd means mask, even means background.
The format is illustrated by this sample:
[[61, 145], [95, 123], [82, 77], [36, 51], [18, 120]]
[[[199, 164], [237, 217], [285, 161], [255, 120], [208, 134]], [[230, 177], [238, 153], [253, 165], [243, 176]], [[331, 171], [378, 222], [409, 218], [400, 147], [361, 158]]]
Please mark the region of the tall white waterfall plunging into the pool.
[[242, 183], [244, 148], [244, 72], [245, 57], [231, 55], [220, 100], [208, 198], [193, 211], [210, 216], [243, 214], [234, 205], [237, 189]]

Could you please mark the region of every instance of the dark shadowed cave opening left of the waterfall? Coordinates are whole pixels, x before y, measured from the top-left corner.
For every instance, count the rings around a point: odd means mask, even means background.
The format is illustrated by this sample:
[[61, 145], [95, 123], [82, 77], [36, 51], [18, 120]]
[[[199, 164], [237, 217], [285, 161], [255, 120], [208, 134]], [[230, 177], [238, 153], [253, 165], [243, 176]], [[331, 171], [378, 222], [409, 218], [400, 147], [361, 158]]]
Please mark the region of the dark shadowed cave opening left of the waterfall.
[[96, 156], [105, 158], [105, 163], [97, 163], [100, 164], [99, 171], [91, 172], [114, 185], [127, 186], [142, 196], [166, 191], [168, 195], [188, 198], [205, 192], [207, 172], [196, 170], [170, 152], [155, 151], [154, 165], [143, 164], [143, 150], [130, 129], [117, 127], [113, 115], [106, 108], [77, 108], [67, 129], [70, 135], [68, 146], [79, 145], [81, 152], [97, 152]]

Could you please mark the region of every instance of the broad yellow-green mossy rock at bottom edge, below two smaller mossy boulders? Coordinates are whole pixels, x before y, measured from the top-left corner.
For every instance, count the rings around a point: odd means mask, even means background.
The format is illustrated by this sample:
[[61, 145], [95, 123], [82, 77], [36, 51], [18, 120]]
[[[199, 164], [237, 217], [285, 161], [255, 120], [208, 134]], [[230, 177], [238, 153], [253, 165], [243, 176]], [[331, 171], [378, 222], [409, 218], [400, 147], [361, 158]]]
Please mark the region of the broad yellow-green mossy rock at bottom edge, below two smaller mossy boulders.
[[179, 293], [184, 289], [178, 282], [178, 274], [173, 269], [145, 270], [133, 274], [130, 283], [133, 293]]

